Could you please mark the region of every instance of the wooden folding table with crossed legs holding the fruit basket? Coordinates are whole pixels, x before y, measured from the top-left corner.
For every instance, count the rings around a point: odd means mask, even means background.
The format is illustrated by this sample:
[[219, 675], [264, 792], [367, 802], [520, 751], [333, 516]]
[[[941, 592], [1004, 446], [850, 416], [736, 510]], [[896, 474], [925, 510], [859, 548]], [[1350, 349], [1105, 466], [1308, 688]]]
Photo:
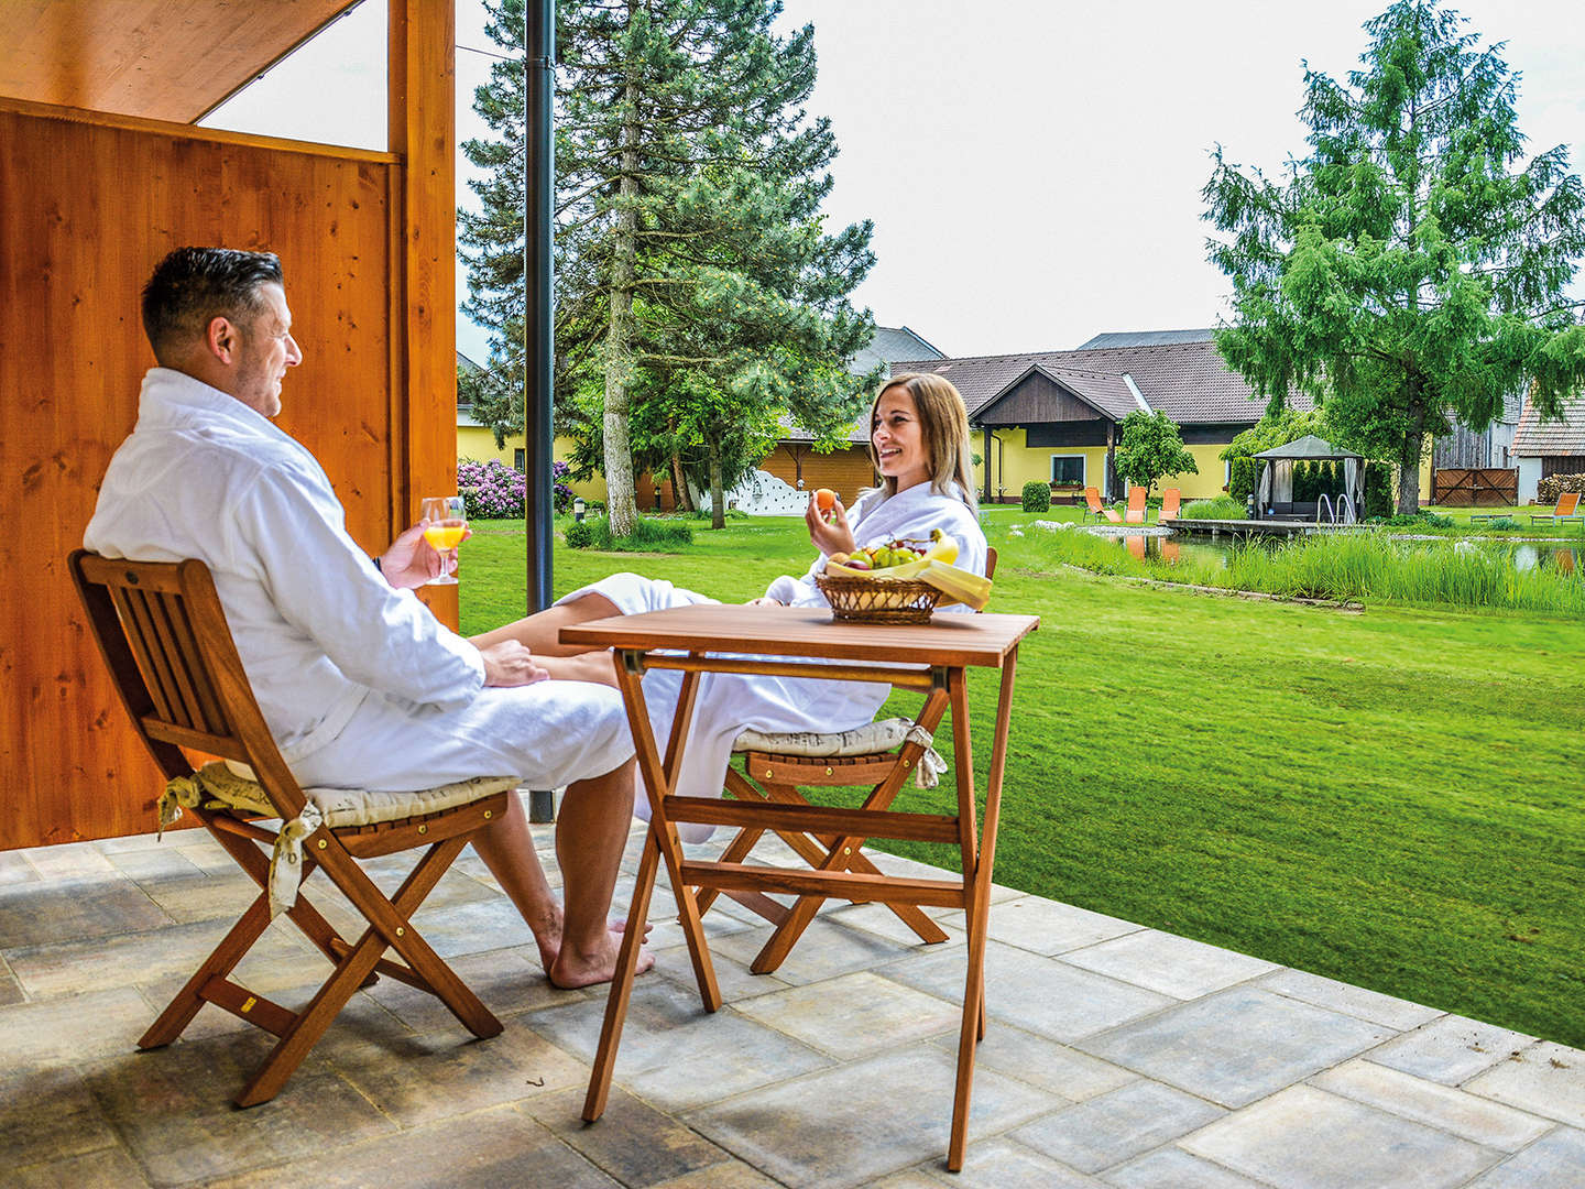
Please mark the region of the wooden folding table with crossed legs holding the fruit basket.
[[[594, 1070], [583, 1118], [590, 1122], [605, 1110], [621, 1026], [628, 1015], [634, 967], [650, 893], [664, 859], [677, 899], [688, 953], [705, 1011], [721, 1007], [721, 989], [710, 964], [693, 888], [791, 893], [794, 896], [878, 900], [921, 907], [962, 908], [968, 927], [968, 969], [964, 980], [964, 1018], [957, 1042], [957, 1088], [953, 1100], [953, 1135], [948, 1168], [964, 1164], [968, 1132], [968, 1094], [973, 1081], [975, 1045], [984, 1035], [984, 953], [991, 908], [991, 870], [995, 859], [997, 818], [1002, 805], [1002, 774], [1006, 767], [1008, 724], [1013, 712], [1013, 675], [1018, 644], [1040, 626], [1033, 615], [937, 614], [926, 625], [835, 623], [824, 607], [743, 607], [699, 604], [645, 615], [593, 620], [561, 629], [563, 644], [617, 650], [617, 679], [628, 705], [639, 774], [650, 799], [650, 832], [639, 862], [639, 877], [628, 910], [628, 931], [605, 1004]], [[984, 824], [976, 826], [975, 775], [968, 732], [967, 669], [1002, 671], [991, 774], [986, 786]], [[677, 713], [661, 756], [644, 699], [645, 669], [680, 669]], [[884, 682], [926, 694], [919, 721], [934, 729], [945, 710], [953, 717], [957, 813], [900, 813], [870, 807], [789, 805], [672, 794], [688, 728], [693, 721], [699, 674], [770, 674], [818, 680]], [[808, 831], [835, 839], [826, 861], [812, 870], [761, 867], [739, 862], [696, 862], [683, 858], [675, 823], [762, 826]], [[962, 877], [957, 880], [902, 878], [851, 872], [845, 859], [867, 839], [911, 839], [957, 845]]]

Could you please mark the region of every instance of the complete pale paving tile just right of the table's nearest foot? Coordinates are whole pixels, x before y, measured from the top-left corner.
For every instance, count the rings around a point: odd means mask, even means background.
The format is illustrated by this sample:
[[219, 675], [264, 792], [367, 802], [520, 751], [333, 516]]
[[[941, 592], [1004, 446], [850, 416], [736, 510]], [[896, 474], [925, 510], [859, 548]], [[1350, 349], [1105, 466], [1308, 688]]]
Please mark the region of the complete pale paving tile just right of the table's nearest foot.
[[1203, 1099], [1135, 1081], [1019, 1127], [1013, 1138], [1083, 1173], [1098, 1173], [1222, 1114]]

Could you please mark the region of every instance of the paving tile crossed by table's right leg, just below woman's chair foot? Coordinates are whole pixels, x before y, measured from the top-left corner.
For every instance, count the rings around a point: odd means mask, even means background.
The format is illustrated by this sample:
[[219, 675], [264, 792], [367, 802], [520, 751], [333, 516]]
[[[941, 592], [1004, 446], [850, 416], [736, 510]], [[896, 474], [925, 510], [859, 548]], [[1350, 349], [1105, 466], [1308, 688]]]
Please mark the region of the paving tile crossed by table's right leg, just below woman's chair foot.
[[[883, 973], [949, 1004], [962, 1004], [964, 953], [919, 954], [886, 967]], [[991, 1019], [1010, 1021], [1054, 1040], [1071, 1043], [1173, 1002], [1054, 958], [995, 942], [986, 946], [986, 1010]]]

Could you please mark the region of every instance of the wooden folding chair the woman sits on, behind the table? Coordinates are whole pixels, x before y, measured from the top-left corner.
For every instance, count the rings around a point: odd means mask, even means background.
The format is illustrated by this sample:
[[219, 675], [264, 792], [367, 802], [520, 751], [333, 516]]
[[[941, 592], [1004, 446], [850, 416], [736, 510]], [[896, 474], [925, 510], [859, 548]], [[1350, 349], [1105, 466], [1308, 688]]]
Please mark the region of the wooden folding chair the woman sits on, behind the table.
[[[995, 549], [987, 549], [987, 579], [995, 577]], [[940, 724], [946, 704], [946, 691], [932, 690], [926, 698], [918, 718], [913, 721], [896, 718], [877, 723], [877, 728], [883, 728], [883, 731], [884, 728], [894, 728], [891, 734], [903, 737], [894, 750], [875, 751], [864, 750], [862, 747], [857, 750], [845, 750], [838, 736], [824, 737], [829, 742], [829, 748], [821, 748], [821, 751], [824, 751], [823, 755], [773, 751], [762, 745], [743, 747], [739, 750], [739, 755], [743, 758], [743, 770], [739, 772], [731, 766], [726, 769], [726, 791], [739, 801], [808, 805], [808, 799], [799, 791], [799, 788], [869, 785], [870, 791], [864, 796], [864, 809], [889, 809], [891, 802], [897, 797], [897, 793], [902, 791], [908, 774], [918, 767], [921, 758], [929, 748], [927, 740], [934, 736], [935, 728]], [[915, 731], [911, 739], [907, 737], [910, 729], [915, 726], [918, 726], [919, 731]], [[862, 732], [854, 731], [846, 734], [861, 736]], [[764, 828], [745, 826], [723, 851], [720, 861], [743, 862], [764, 834]], [[880, 874], [861, 848], [848, 847], [846, 840], [837, 835], [812, 834], [804, 831], [775, 831], [775, 834], [810, 867], [824, 870], [850, 870], [861, 875]], [[842, 854], [840, 862], [832, 862], [837, 858], [834, 848], [838, 843], [843, 843], [843, 850], [846, 853]], [[756, 975], [767, 975], [781, 965], [786, 956], [792, 951], [792, 946], [797, 943], [797, 939], [804, 935], [804, 931], [808, 929], [810, 923], [815, 919], [815, 913], [819, 912], [821, 904], [824, 904], [824, 900], [818, 896], [799, 896], [791, 907], [788, 907], [758, 891], [705, 888], [697, 891], [699, 915], [702, 916], [708, 912], [710, 905], [715, 904], [716, 896], [721, 894], [737, 904], [742, 904], [745, 908], [758, 913], [764, 919], [770, 921], [770, 924], [777, 926], [775, 932], [770, 934], [770, 939], [750, 964], [750, 970]], [[854, 900], [854, 904], [859, 904], [859, 900]], [[921, 942], [935, 943], [946, 940], [946, 934], [941, 927], [918, 905], [888, 902], [886, 907], [891, 908], [903, 924], [913, 929]]]

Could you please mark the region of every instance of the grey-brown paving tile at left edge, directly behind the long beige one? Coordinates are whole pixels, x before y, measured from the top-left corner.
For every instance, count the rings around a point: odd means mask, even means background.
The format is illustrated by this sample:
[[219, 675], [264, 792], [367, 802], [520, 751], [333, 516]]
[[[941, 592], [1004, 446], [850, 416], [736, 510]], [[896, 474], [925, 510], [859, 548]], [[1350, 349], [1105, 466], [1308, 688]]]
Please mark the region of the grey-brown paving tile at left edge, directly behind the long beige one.
[[168, 924], [117, 870], [0, 886], [0, 950], [116, 937]]

